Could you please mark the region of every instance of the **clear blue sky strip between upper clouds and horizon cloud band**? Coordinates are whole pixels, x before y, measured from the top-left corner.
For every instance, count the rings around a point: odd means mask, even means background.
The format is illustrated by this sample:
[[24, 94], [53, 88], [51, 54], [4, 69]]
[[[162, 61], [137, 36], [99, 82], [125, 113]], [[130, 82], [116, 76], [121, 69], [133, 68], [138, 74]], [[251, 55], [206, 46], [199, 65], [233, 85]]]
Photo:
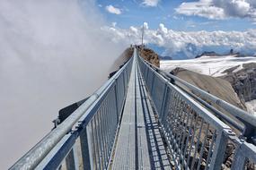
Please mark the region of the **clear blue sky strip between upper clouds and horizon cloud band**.
[[[207, 0], [205, 0], [207, 1]], [[158, 28], [160, 23], [171, 30], [197, 31], [197, 30], [248, 30], [255, 29], [251, 17], [226, 16], [224, 19], [209, 18], [200, 14], [183, 14], [177, 12], [182, 3], [190, 4], [199, 1], [181, 0], [152, 0], [157, 2], [154, 6], [143, 4], [145, 1], [139, 0], [97, 0], [99, 9], [109, 23], [117, 22], [117, 26], [128, 29], [130, 26], [139, 26], [146, 21], [150, 29]], [[147, 2], [150, 2], [148, 0]], [[121, 13], [110, 13], [106, 6], [112, 5], [119, 9]]]

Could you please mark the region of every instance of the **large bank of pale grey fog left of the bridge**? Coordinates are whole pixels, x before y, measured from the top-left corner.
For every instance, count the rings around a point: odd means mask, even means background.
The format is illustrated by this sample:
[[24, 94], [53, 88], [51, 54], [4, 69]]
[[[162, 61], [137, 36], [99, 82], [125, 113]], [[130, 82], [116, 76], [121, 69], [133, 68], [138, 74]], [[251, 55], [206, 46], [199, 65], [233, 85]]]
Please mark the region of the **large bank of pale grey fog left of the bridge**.
[[1, 169], [50, 132], [60, 108], [107, 79], [123, 47], [104, 23], [93, 0], [0, 0]]

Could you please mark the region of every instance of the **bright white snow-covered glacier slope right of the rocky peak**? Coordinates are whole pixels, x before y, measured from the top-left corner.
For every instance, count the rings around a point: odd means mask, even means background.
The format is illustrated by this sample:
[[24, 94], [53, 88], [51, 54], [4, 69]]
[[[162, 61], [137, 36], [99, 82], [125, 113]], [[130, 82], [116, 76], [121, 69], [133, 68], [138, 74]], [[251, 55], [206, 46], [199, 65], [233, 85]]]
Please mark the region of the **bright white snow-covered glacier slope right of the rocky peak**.
[[199, 72], [214, 77], [225, 75], [226, 69], [236, 66], [234, 72], [243, 69], [243, 64], [256, 63], [255, 56], [235, 57], [235, 55], [224, 56], [201, 56], [190, 60], [164, 60], [160, 61], [160, 68], [171, 72], [176, 67], [182, 67], [190, 71]]

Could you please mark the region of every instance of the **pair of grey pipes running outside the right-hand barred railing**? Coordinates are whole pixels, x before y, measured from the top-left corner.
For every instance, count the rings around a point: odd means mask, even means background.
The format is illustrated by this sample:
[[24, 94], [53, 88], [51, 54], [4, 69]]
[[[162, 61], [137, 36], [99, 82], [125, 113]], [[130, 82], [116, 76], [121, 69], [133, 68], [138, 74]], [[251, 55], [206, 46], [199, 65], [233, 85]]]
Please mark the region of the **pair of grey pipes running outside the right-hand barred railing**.
[[[186, 87], [190, 89], [190, 91], [192, 91], [192, 93], [189, 93], [191, 97], [199, 100], [200, 103], [212, 110], [217, 117], [232, 125], [236, 130], [242, 132], [243, 135], [241, 137], [243, 137], [243, 140], [247, 140], [256, 145], [256, 116], [248, 114], [241, 108], [233, 106], [225, 100], [217, 98], [216, 96], [213, 96], [210, 93], [199, 89], [198, 87], [188, 83], [187, 81], [181, 80], [179, 77], [174, 76], [171, 73], [164, 72], [163, 70], [155, 67], [153, 64], [149, 64], [146, 61], [144, 62], [148, 64], [155, 72], [159, 72], [165, 79], [170, 80], [172, 83], [179, 86], [180, 88]], [[224, 113], [218, 111], [214, 106], [210, 106], [207, 101], [210, 101], [212, 104], [223, 108], [227, 113], [232, 116], [225, 115]]]

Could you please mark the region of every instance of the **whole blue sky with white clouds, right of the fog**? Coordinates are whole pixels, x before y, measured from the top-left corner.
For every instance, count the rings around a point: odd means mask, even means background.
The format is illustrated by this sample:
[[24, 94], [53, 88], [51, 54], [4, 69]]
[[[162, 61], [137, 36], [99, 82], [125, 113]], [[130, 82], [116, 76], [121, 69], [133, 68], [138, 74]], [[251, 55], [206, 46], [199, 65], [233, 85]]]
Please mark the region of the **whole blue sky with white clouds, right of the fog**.
[[[145, 43], [161, 55], [192, 58], [230, 49], [256, 55], [255, 0], [96, 0], [106, 30], [118, 43]], [[162, 49], [162, 50], [159, 50]]]

